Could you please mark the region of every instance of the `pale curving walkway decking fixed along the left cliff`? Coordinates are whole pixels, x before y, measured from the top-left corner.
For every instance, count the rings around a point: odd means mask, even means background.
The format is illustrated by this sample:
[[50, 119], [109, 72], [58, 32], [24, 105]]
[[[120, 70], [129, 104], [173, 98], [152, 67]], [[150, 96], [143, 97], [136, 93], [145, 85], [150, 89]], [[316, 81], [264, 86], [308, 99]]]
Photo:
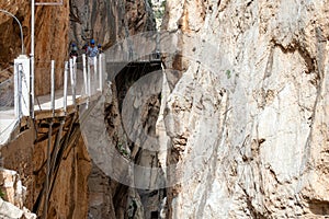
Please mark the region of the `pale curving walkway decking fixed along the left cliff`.
[[[161, 65], [160, 59], [148, 59], [148, 60], [137, 60], [137, 61], [106, 61], [106, 66], [102, 66], [102, 70], [104, 74], [102, 74], [102, 81], [114, 80], [116, 76], [115, 72], [125, 72], [129, 68], [135, 69], [144, 69], [148, 64], [148, 68], [150, 70], [152, 68], [158, 68], [157, 66]], [[101, 64], [100, 64], [101, 65]], [[105, 70], [110, 70], [109, 76], [105, 76]], [[139, 69], [140, 70], [140, 69]], [[145, 69], [144, 69], [145, 70]], [[67, 84], [67, 100], [65, 107], [65, 94], [64, 89], [56, 90], [55, 92], [55, 107], [52, 108], [52, 97], [50, 94], [37, 96], [34, 100], [34, 116], [35, 119], [48, 119], [54, 117], [64, 117], [68, 114], [71, 114], [76, 111], [78, 105], [87, 103], [88, 101], [92, 101], [97, 99], [101, 91], [99, 91], [100, 85], [100, 74], [94, 76], [92, 72], [90, 73], [90, 93], [89, 95], [86, 92], [86, 79], [83, 78], [82, 70], [77, 70], [77, 82], [76, 82], [76, 92], [73, 100], [72, 88], [70, 77], [68, 77]], [[15, 118], [14, 108], [0, 111], [0, 146], [8, 143], [14, 136], [13, 134], [19, 132], [18, 130], [20, 126], [22, 126], [21, 120]], [[23, 124], [26, 125], [26, 124]]]

